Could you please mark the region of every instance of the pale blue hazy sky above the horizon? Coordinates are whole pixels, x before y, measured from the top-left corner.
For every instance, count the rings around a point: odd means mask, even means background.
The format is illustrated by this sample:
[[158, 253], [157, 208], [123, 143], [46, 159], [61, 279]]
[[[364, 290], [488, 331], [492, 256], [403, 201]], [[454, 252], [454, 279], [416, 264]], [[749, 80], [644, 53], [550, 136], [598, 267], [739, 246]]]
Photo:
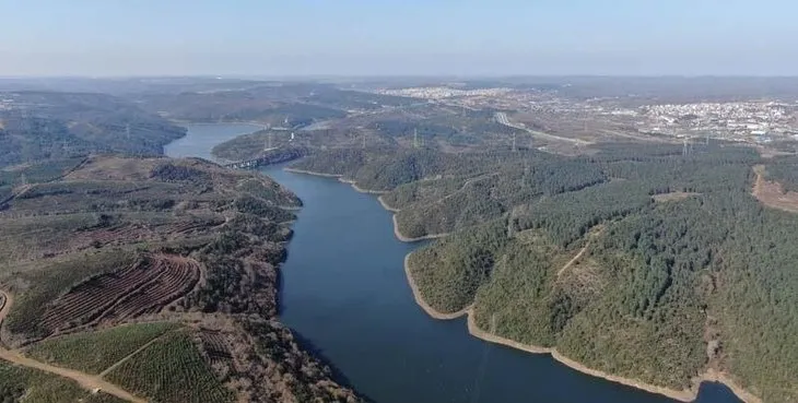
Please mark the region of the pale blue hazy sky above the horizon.
[[0, 0], [0, 75], [798, 75], [794, 0]]

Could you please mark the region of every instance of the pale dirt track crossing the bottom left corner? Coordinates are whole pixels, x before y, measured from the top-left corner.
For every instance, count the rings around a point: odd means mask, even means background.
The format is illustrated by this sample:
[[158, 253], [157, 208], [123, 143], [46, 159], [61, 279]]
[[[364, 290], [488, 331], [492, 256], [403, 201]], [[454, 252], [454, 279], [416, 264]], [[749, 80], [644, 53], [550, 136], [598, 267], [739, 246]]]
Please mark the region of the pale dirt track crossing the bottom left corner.
[[[5, 316], [8, 316], [9, 311], [11, 310], [11, 305], [14, 303], [14, 298], [2, 291], [0, 291], [0, 294], [4, 297], [4, 304], [2, 308], [0, 308], [0, 324], [2, 323], [3, 319], [5, 319]], [[102, 378], [89, 374], [84, 374], [81, 371], [77, 371], [73, 369], [67, 369], [61, 367], [56, 367], [49, 364], [39, 363], [35, 359], [28, 358], [20, 354], [17, 351], [8, 349], [2, 346], [0, 346], [0, 359], [4, 359], [7, 361], [10, 361], [12, 364], [16, 364], [19, 366], [38, 369], [40, 371], [55, 374], [63, 378], [69, 378], [75, 382], [78, 382], [83, 389], [89, 390], [91, 392], [101, 390], [105, 393], [113, 394], [119, 399], [126, 400], [128, 402], [136, 402], [136, 403], [146, 403], [146, 400], [137, 398], [132, 395], [131, 393], [122, 390], [121, 388], [117, 387], [116, 384], [109, 383]]]

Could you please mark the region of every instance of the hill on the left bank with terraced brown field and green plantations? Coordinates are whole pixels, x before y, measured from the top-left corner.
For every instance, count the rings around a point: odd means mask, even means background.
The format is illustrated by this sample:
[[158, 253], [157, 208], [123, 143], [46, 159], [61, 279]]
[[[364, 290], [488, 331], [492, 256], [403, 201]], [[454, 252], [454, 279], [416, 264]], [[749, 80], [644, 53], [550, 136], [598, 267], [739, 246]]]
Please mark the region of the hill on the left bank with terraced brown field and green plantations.
[[0, 211], [3, 398], [359, 401], [275, 319], [301, 205], [280, 185], [191, 158], [8, 175], [27, 179]]

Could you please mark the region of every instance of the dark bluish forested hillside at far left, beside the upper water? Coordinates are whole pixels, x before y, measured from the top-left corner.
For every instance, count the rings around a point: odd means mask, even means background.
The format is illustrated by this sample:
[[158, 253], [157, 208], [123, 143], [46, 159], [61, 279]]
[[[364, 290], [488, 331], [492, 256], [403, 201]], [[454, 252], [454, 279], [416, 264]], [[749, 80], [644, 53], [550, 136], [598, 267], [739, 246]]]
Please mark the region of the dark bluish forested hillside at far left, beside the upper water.
[[91, 153], [162, 155], [185, 128], [105, 94], [0, 93], [0, 166]]

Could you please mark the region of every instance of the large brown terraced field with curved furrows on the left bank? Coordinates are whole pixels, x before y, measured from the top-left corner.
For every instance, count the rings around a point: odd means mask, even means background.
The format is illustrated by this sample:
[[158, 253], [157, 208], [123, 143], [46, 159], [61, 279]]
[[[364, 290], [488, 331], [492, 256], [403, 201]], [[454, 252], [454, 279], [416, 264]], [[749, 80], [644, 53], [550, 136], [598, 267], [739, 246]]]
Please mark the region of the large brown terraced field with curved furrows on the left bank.
[[157, 312], [199, 281], [199, 263], [177, 256], [154, 256], [131, 268], [90, 278], [56, 299], [43, 327], [63, 331], [95, 319], [118, 320]]

